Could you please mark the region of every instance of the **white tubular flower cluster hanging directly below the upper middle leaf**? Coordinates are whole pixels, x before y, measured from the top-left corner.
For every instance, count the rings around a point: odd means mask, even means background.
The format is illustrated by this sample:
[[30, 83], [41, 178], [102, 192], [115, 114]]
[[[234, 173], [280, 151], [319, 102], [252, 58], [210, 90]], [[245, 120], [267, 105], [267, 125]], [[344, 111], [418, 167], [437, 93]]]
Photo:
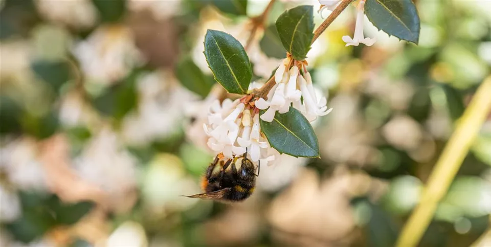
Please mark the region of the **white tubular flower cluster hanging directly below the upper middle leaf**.
[[[290, 66], [293, 65], [291, 68]], [[299, 69], [300, 68], [300, 69]], [[276, 112], [286, 113], [290, 106], [300, 110], [309, 122], [318, 116], [325, 116], [332, 109], [327, 109], [325, 97], [317, 98], [312, 78], [305, 68], [305, 63], [285, 58], [275, 72], [275, 86], [271, 89], [267, 100], [263, 98], [255, 102], [255, 106], [265, 110], [261, 119], [273, 121]]]

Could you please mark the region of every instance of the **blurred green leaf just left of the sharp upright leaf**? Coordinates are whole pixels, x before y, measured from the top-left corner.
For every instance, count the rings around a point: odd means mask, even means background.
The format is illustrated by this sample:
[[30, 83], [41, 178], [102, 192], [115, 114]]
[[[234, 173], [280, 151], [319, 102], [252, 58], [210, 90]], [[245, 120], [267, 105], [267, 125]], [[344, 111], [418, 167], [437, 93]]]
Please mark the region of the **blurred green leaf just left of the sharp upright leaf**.
[[189, 57], [182, 59], [177, 64], [175, 75], [189, 91], [203, 98], [210, 93], [213, 84], [215, 84], [213, 78], [203, 74], [203, 71]]

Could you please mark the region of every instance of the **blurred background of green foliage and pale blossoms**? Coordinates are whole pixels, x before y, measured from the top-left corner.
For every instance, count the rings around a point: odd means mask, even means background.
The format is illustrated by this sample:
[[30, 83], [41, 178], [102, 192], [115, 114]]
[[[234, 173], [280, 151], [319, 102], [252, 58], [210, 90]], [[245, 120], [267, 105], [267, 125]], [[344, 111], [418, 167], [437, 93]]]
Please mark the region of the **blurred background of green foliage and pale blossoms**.
[[[414, 2], [419, 46], [366, 21], [375, 45], [345, 48], [354, 8], [334, 21], [308, 54], [333, 107], [313, 124], [322, 159], [284, 156], [224, 205], [179, 196], [213, 159], [204, 34], [245, 44], [268, 1], [2, 0], [0, 245], [392, 246], [491, 72], [491, 2]], [[319, 7], [278, 0], [252, 37], [255, 81], [300, 4]], [[420, 246], [491, 246], [490, 212], [491, 116]]]

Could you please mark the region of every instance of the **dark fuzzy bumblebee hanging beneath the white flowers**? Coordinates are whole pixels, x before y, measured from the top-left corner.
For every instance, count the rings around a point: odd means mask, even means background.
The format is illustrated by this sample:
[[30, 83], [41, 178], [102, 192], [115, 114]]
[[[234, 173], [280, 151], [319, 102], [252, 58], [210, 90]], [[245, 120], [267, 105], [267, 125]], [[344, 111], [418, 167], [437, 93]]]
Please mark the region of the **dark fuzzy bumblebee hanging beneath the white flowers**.
[[205, 193], [190, 195], [191, 198], [213, 199], [222, 202], [238, 202], [247, 199], [254, 192], [256, 176], [259, 176], [259, 165], [256, 168], [247, 158], [247, 151], [233, 159], [215, 157], [203, 176], [202, 189]]

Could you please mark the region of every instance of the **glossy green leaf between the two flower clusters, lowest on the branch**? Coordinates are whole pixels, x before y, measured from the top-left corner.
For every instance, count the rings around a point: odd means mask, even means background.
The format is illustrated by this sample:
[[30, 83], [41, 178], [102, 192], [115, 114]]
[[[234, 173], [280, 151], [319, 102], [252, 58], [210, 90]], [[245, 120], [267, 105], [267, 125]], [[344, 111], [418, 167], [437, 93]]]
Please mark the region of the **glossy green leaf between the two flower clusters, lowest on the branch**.
[[[261, 110], [261, 115], [265, 110]], [[275, 115], [273, 121], [260, 120], [267, 141], [280, 153], [295, 157], [319, 158], [319, 143], [314, 128], [299, 110], [290, 107], [287, 113]]]

